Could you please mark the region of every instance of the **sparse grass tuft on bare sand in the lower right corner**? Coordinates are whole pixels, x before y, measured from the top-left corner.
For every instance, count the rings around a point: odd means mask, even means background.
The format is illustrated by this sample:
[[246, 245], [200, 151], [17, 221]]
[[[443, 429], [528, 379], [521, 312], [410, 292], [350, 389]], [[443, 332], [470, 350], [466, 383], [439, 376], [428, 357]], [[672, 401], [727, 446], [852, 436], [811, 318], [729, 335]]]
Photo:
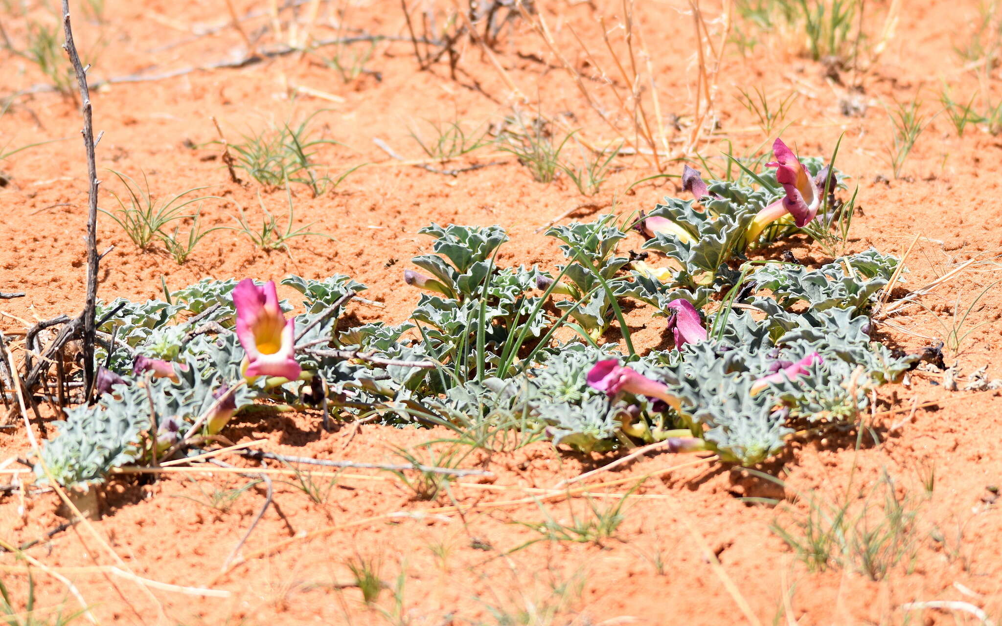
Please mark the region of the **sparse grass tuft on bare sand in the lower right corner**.
[[[874, 500], [883, 496], [883, 502]], [[896, 566], [909, 566], [917, 551], [918, 506], [898, 496], [887, 475], [857, 504], [847, 493], [832, 500], [817, 492], [806, 498], [807, 511], [788, 511], [791, 519], [771, 528], [811, 571], [850, 568], [871, 580], [883, 579]]]

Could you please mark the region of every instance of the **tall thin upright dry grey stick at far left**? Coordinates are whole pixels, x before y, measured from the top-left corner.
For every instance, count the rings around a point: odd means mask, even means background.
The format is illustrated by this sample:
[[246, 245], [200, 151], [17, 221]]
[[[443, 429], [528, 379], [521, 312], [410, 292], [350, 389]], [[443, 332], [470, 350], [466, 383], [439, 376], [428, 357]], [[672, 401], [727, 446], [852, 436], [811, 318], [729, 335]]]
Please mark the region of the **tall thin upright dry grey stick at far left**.
[[76, 45], [73, 43], [73, 29], [69, 21], [69, 0], [62, 0], [63, 32], [66, 42], [63, 49], [69, 55], [76, 82], [80, 88], [81, 112], [83, 113], [83, 145], [87, 152], [87, 295], [83, 305], [83, 382], [84, 398], [91, 397], [94, 387], [94, 315], [97, 308], [97, 161], [94, 156], [94, 127], [92, 121], [93, 107], [90, 103], [90, 91], [87, 88], [87, 70], [80, 63]]

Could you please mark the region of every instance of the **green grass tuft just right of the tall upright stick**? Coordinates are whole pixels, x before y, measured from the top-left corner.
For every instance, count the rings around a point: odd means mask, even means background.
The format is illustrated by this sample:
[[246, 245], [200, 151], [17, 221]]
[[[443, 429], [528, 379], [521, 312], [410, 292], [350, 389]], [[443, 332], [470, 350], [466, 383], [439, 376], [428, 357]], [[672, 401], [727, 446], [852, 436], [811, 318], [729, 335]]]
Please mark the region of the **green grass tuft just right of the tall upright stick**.
[[115, 220], [115, 222], [122, 227], [122, 230], [125, 231], [125, 234], [127, 234], [128, 237], [132, 239], [132, 242], [135, 243], [140, 249], [146, 249], [149, 247], [149, 244], [153, 241], [153, 239], [160, 237], [162, 235], [163, 228], [166, 227], [167, 224], [178, 219], [194, 217], [194, 214], [186, 214], [182, 212], [185, 206], [199, 200], [217, 197], [214, 195], [204, 195], [183, 199], [184, 196], [189, 193], [194, 193], [195, 191], [200, 191], [201, 189], [206, 188], [194, 187], [186, 191], [181, 191], [180, 193], [171, 196], [166, 201], [159, 201], [149, 191], [149, 180], [146, 179], [145, 172], [142, 174], [142, 181], [145, 189], [142, 189], [130, 176], [117, 172], [113, 169], [108, 171], [118, 176], [118, 179], [122, 181], [122, 184], [125, 185], [127, 195], [125, 196], [125, 201], [123, 201], [121, 196], [112, 190], [111, 194], [118, 202], [118, 208], [110, 211], [103, 208], [98, 208], [98, 210]]

